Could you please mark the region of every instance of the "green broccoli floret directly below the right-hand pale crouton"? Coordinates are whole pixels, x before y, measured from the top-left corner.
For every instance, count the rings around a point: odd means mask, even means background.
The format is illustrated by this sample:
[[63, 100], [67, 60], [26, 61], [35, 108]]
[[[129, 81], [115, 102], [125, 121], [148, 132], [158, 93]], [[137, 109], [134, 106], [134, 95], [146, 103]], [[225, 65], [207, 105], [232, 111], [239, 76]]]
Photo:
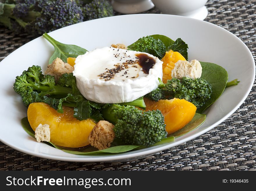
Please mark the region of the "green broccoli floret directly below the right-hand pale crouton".
[[173, 78], [168, 80], [165, 86], [169, 99], [179, 98], [186, 99], [193, 103], [197, 108], [200, 108], [211, 97], [211, 84], [202, 78], [187, 78], [183, 77], [181, 80]]

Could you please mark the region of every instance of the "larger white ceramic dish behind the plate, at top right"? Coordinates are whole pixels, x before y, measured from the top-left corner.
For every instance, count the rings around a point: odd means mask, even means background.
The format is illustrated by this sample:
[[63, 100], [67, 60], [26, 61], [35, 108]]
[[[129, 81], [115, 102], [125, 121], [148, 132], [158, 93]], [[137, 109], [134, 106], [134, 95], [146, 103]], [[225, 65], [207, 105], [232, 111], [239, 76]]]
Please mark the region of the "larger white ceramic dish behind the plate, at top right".
[[175, 14], [204, 20], [208, 15], [207, 0], [152, 0], [163, 14]]

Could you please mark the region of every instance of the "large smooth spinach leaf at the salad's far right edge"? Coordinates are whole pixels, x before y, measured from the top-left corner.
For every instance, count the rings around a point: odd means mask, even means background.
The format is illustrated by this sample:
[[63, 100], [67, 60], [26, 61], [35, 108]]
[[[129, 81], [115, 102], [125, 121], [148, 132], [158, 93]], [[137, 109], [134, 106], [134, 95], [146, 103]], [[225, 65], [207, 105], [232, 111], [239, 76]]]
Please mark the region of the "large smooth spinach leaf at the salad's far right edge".
[[228, 74], [227, 71], [221, 66], [209, 63], [201, 62], [202, 66], [202, 79], [205, 79], [211, 84], [211, 98], [206, 101], [205, 105], [196, 110], [197, 113], [202, 113], [206, 108], [213, 104], [225, 90]]

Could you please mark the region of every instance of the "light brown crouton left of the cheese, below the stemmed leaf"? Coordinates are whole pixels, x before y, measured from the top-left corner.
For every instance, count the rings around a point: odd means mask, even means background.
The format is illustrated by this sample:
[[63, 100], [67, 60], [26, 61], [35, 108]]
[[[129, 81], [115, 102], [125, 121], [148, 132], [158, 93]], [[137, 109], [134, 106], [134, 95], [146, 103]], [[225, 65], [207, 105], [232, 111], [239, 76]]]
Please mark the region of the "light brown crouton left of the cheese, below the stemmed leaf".
[[55, 80], [58, 81], [62, 74], [69, 74], [73, 71], [74, 67], [70, 66], [68, 63], [63, 62], [61, 59], [56, 58], [51, 64], [47, 66], [45, 74], [54, 76]]

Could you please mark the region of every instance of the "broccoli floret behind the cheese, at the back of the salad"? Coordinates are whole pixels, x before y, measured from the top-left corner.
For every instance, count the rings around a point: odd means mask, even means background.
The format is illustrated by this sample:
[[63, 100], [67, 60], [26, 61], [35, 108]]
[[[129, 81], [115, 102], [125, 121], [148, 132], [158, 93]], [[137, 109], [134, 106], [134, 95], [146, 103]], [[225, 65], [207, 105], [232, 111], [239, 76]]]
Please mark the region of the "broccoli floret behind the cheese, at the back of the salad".
[[154, 39], [150, 36], [138, 39], [138, 41], [130, 46], [128, 49], [139, 52], [147, 52], [159, 58], [162, 58], [163, 54], [166, 52], [166, 47], [163, 42], [160, 39]]

